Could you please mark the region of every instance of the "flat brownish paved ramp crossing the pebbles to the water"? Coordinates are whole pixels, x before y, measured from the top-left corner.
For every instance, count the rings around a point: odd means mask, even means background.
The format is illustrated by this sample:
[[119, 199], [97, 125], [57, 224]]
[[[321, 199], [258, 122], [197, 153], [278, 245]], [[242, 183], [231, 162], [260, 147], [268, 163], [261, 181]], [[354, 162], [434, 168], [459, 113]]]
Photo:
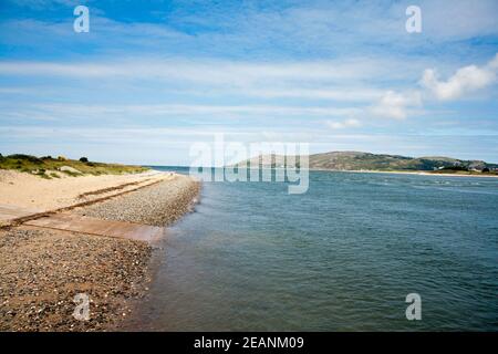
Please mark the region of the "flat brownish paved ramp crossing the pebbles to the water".
[[44, 216], [34, 220], [25, 221], [24, 225], [97, 236], [126, 238], [147, 242], [160, 238], [165, 230], [164, 228], [155, 226], [101, 220], [69, 212]]

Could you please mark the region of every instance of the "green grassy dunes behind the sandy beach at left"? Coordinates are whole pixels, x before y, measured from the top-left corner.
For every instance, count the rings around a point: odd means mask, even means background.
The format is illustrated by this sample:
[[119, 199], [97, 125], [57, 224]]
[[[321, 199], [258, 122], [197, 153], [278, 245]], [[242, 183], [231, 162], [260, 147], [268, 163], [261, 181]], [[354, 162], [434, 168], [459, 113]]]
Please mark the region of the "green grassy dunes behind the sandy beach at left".
[[31, 155], [14, 154], [9, 156], [0, 155], [0, 169], [14, 169], [21, 173], [29, 173], [42, 178], [60, 178], [53, 171], [60, 170], [61, 167], [69, 166], [77, 169], [80, 173], [61, 171], [72, 177], [83, 175], [124, 175], [124, 174], [139, 174], [148, 170], [148, 167], [129, 166], [121, 164], [104, 164], [95, 162], [80, 162], [74, 159], [66, 159], [64, 157], [52, 158], [37, 157]]

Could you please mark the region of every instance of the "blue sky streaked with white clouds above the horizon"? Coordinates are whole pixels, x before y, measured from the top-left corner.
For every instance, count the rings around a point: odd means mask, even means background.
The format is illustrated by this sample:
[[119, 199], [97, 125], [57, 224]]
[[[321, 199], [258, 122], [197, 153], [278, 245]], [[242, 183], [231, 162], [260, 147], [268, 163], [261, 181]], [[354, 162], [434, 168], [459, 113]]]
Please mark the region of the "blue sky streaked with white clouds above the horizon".
[[189, 165], [224, 134], [498, 163], [497, 14], [496, 0], [1, 0], [0, 153]]

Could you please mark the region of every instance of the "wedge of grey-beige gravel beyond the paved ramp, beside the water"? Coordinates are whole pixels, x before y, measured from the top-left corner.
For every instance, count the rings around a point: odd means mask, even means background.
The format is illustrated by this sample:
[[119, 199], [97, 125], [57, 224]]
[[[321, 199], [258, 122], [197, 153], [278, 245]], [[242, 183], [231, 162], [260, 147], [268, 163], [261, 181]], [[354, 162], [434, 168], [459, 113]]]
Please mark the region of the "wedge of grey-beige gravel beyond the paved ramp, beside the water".
[[173, 180], [144, 187], [74, 212], [105, 220], [168, 226], [190, 210], [199, 189], [198, 181], [178, 175]]

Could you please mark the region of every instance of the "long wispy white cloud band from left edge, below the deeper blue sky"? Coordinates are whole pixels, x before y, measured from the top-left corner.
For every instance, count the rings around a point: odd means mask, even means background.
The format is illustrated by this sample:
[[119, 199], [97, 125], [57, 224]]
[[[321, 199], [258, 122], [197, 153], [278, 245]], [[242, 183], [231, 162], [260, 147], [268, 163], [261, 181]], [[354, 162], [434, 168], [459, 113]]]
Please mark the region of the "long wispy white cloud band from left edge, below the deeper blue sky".
[[[413, 65], [413, 63], [411, 64]], [[187, 80], [211, 84], [229, 83], [246, 85], [260, 82], [340, 82], [367, 81], [375, 77], [400, 79], [393, 73], [393, 66], [406, 69], [402, 61], [375, 59], [349, 59], [328, 61], [283, 61], [283, 62], [243, 62], [227, 60], [189, 60], [189, 59], [144, 59], [101, 62], [38, 62], [3, 61], [0, 74], [66, 76], [77, 79], [136, 79], [136, 80]], [[390, 75], [391, 74], [391, 75]]]

